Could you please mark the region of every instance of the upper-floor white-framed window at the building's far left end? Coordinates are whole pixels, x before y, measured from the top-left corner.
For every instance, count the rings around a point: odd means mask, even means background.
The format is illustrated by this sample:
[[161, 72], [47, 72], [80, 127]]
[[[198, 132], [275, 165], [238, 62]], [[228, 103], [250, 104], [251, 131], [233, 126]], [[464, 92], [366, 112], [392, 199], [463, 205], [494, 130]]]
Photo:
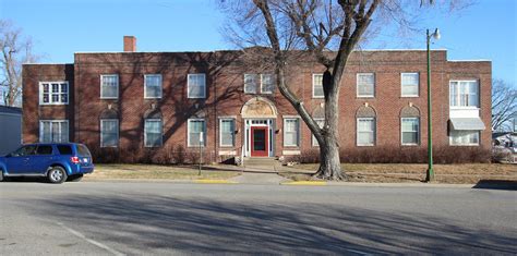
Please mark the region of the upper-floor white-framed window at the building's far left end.
[[69, 82], [39, 82], [39, 105], [68, 105]]

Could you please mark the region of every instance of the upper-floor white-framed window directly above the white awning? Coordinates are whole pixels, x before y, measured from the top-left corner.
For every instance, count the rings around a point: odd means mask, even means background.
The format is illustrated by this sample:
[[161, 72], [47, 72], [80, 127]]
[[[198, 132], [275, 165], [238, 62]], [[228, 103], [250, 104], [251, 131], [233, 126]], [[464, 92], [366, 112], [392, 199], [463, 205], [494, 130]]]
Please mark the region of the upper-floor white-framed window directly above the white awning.
[[478, 108], [479, 84], [478, 81], [450, 81], [449, 83], [450, 107]]

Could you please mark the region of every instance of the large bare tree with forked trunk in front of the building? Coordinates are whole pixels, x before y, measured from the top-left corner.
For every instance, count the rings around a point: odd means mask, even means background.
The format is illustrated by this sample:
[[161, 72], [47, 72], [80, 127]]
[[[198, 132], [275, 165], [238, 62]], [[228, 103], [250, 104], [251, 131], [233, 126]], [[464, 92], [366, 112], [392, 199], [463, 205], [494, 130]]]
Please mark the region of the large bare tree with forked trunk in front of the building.
[[[238, 46], [266, 46], [270, 49], [280, 94], [292, 105], [320, 144], [317, 178], [341, 180], [338, 124], [339, 89], [348, 58], [359, 42], [369, 38], [372, 21], [386, 20], [400, 26], [410, 24], [410, 8], [432, 5], [433, 0], [253, 0], [224, 1], [232, 24], [225, 33]], [[449, 1], [455, 8], [457, 1]], [[225, 4], [226, 3], [226, 4]], [[444, 4], [442, 4], [444, 5]], [[456, 4], [458, 5], [458, 4]], [[302, 51], [300, 51], [302, 50]], [[303, 52], [321, 64], [325, 123], [320, 127], [291, 89], [289, 69], [293, 54]], [[264, 52], [261, 52], [264, 54]], [[308, 58], [304, 58], [308, 60]]]

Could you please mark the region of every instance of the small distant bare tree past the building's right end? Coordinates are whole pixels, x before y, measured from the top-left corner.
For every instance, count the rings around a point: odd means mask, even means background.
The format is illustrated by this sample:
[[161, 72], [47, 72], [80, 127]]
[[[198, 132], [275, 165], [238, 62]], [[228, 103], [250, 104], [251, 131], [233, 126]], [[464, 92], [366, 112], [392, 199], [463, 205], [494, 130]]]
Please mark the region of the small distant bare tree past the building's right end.
[[509, 131], [513, 118], [517, 118], [517, 89], [503, 80], [492, 81], [492, 131]]

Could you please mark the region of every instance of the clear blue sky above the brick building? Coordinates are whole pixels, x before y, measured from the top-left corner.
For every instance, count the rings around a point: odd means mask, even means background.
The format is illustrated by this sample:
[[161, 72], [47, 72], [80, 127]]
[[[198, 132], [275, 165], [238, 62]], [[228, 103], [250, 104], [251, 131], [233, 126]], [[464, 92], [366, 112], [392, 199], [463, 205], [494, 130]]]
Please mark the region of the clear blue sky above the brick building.
[[[120, 51], [122, 36], [134, 35], [139, 51], [209, 51], [229, 49], [216, 0], [0, 0], [0, 19], [23, 28], [43, 62], [73, 62], [76, 51]], [[438, 1], [440, 2], [440, 1]], [[386, 32], [364, 48], [425, 47], [425, 28], [440, 27], [433, 48], [448, 59], [489, 59], [493, 77], [517, 84], [517, 1], [478, 0], [466, 10], [430, 12], [421, 33], [400, 39]]]

